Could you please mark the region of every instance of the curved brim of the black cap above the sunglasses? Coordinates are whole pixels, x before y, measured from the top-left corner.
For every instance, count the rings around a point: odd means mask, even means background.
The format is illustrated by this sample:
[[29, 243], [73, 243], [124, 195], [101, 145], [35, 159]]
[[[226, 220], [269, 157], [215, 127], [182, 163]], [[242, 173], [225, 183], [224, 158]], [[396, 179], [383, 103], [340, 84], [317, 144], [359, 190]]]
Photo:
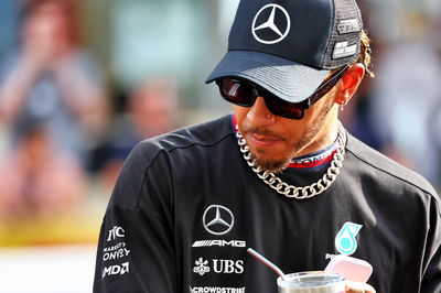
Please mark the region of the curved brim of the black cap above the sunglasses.
[[287, 101], [300, 102], [314, 93], [329, 73], [260, 52], [229, 51], [205, 83], [222, 77], [240, 77]]

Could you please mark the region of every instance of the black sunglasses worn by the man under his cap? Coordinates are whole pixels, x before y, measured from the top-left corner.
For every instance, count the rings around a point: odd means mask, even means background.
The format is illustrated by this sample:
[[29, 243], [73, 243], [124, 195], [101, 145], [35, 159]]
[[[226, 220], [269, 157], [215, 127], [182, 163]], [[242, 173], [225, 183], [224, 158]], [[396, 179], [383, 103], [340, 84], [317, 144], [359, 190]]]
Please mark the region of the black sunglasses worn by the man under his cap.
[[300, 120], [303, 118], [305, 109], [314, 105], [336, 85], [347, 67], [348, 65], [345, 65], [336, 70], [329, 79], [324, 80], [310, 97], [301, 102], [286, 101], [245, 79], [219, 78], [216, 80], [216, 84], [219, 87], [220, 96], [229, 102], [241, 107], [251, 107], [257, 97], [262, 97], [268, 109], [273, 115]]

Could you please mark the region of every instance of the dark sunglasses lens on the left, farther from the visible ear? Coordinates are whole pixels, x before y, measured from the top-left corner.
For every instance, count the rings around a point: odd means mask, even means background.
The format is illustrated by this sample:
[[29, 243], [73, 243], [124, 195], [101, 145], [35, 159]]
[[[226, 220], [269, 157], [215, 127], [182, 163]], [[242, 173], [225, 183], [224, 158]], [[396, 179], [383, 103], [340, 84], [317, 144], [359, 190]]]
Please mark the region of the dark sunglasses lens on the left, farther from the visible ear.
[[251, 85], [232, 79], [218, 82], [222, 96], [233, 104], [251, 107], [255, 101], [255, 89]]

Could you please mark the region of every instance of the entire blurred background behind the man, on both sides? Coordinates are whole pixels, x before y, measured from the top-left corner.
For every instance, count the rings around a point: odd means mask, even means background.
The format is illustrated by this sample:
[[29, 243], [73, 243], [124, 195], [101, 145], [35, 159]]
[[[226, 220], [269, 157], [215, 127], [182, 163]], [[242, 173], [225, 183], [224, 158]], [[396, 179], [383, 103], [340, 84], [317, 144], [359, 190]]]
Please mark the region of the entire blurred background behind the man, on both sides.
[[[0, 1], [0, 292], [92, 292], [121, 164], [229, 111], [205, 77], [238, 0]], [[358, 0], [373, 39], [341, 119], [441, 187], [441, 0]]]

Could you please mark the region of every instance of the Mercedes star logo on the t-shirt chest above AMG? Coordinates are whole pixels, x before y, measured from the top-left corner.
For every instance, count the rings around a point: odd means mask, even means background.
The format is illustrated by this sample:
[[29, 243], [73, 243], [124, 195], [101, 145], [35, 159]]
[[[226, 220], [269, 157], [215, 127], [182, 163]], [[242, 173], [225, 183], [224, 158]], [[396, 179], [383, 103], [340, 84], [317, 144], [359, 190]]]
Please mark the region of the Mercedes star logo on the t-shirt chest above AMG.
[[205, 209], [202, 218], [205, 230], [213, 235], [225, 235], [234, 225], [233, 213], [219, 205], [211, 205]]

